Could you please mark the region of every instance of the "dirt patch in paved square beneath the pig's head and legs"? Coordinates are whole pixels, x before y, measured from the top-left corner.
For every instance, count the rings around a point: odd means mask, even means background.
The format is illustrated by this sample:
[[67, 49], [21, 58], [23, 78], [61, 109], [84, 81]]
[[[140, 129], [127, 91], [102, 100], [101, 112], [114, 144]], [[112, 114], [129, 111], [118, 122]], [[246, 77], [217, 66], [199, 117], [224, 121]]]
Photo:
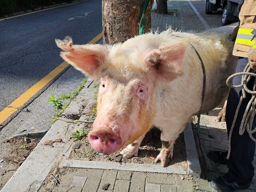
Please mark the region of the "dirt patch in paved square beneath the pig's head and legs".
[[[85, 130], [91, 129], [91, 124], [84, 126]], [[76, 141], [73, 145], [70, 159], [76, 160], [90, 160], [90, 161], [103, 161], [103, 162], [120, 162], [120, 163], [139, 163], [139, 164], [154, 164], [154, 159], [159, 154], [162, 143], [160, 140], [160, 130], [153, 128], [148, 132], [142, 141], [138, 157], [132, 157], [130, 159], [123, 158], [117, 151], [114, 154], [102, 155], [91, 148], [88, 137], [82, 138], [80, 141]], [[168, 165], [182, 166], [184, 170], [187, 168], [186, 162], [186, 148], [184, 142], [183, 133], [180, 134], [174, 144], [173, 159]]]

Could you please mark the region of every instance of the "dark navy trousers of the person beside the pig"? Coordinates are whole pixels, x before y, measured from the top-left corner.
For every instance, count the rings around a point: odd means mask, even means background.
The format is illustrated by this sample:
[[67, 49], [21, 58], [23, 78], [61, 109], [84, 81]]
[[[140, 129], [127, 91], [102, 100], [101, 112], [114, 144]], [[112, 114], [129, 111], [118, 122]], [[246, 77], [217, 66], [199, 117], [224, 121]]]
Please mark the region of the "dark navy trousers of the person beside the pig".
[[[239, 58], [236, 72], [242, 72], [244, 67], [248, 63], [248, 58]], [[242, 70], [242, 71], [241, 71]], [[233, 85], [241, 84], [241, 77], [236, 76], [233, 79]], [[250, 79], [247, 84], [249, 90], [252, 90], [254, 85], [254, 77]], [[240, 96], [242, 91], [241, 89], [231, 88], [228, 95], [228, 102], [226, 107], [226, 126], [228, 135], [232, 126], [236, 108], [238, 106]], [[244, 115], [244, 111], [249, 100], [252, 98], [252, 94], [246, 93], [246, 98], [243, 99], [236, 119], [234, 130], [231, 138], [231, 153], [228, 160], [228, 174], [237, 180], [239, 183], [249, 183], [252, 181], [254, 176], [254, 166], [252, 164], [255, 152], [255, 142], [250, 139], [248, 132], [245, 130], [244, 134], [239, 134], [240, 124]], [[252, 124], [252, 130], [256, 127], [256, 116], [254, 116], [254, 121]], [[253, 134], [256, 138], [256, 132]]]

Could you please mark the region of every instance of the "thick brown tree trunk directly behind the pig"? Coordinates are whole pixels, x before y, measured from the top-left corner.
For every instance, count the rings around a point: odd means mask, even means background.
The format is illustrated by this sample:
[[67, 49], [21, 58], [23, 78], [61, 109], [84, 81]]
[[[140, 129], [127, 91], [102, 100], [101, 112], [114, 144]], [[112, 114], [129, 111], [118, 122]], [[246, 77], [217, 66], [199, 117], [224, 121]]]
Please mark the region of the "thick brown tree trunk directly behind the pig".
[[[144, 32], [151, 28], [150, 0], [145, 15]], [[104, 44], [124, 42], [139, 34], [143, 0], [102, 0], [102, 27]]]

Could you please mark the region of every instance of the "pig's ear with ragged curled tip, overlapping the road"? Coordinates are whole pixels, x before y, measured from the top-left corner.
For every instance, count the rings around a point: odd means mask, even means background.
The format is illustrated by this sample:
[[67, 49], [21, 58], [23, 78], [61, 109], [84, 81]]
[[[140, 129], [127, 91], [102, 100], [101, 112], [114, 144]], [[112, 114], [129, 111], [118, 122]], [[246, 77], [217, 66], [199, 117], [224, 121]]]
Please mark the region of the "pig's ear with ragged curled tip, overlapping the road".
[[64, 52], [60, 56], [76, 69], [86, 72], [94, 79], [100, 78], [100, 65], [104, 62], [108, 50], [100, 44], [73, 45], [71, 38], [63, 41], [56, 39], [56, 44]]

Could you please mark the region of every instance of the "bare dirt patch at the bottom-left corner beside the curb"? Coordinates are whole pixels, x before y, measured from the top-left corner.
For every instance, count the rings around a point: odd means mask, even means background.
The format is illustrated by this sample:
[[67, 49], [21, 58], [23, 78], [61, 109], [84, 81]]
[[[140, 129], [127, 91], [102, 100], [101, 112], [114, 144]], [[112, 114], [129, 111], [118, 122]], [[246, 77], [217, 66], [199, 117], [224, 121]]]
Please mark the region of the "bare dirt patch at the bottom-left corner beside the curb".
[[0, 163], [0, 190], [26, 160], [39, 141], [39, 138], [32, 139], [27, 137], [6, 140], [8, 154]]

